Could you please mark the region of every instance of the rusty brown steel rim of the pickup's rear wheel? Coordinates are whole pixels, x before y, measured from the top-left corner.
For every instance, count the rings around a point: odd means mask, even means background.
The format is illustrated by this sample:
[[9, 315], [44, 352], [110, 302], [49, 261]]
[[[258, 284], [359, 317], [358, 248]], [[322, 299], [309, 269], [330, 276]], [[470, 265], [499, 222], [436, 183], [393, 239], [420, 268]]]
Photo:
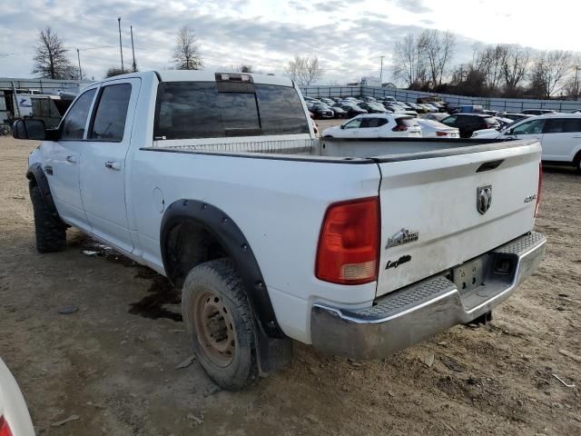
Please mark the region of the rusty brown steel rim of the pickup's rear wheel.
[[236, 331], [222, 298], [211, 291], [200, 292], [193, 314], [196, 335], [208, 359], [222, 368], [230, 365], [236, 352]]

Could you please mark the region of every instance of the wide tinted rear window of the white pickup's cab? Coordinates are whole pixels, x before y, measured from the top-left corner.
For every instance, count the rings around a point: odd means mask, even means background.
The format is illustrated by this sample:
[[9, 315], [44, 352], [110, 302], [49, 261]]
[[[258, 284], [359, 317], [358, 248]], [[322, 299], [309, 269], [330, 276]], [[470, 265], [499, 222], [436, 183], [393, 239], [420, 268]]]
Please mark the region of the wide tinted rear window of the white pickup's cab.
[[187, 139], [309, 133], [294, 88], [256, 84], [252, 89], [255, 93], [219, 93], [214, 82], [162, 83], [157, 93], [154, 136]]

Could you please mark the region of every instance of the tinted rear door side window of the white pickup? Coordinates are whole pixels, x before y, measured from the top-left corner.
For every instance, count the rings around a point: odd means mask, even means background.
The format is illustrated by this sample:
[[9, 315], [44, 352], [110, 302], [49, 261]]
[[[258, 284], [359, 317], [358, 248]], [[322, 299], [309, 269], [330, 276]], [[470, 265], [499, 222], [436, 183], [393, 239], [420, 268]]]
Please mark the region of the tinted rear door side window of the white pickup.
[[104, 86], [94, 111], [93, 128], [89, 138], [96, 141], [123, 141], [131, 84]]

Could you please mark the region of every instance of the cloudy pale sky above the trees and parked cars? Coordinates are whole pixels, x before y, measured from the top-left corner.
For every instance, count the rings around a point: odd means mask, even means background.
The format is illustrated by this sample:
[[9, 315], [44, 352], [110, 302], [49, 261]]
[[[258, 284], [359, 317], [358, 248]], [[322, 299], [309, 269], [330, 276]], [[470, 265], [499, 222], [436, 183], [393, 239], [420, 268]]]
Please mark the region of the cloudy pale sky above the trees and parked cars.
[[534, 49], [579, 50], [579, 0], [19, 0], [0, 8], [0, 77], [32, 77], [38, 30], [46, 25], [64, 39], [84, 74], [99, 79], [131, 64], [129, 26], [140, 69], [171, 66], [176, 30], [190, 25], [206, 68], [252, 64], [284, 74], [292, 55], [317, 55], [321, 83], [344, 84], [364, 75], [390, 76], [394, 42], [425, 28], [458, 35], [455, 63], [475, 44], [509, 43]]

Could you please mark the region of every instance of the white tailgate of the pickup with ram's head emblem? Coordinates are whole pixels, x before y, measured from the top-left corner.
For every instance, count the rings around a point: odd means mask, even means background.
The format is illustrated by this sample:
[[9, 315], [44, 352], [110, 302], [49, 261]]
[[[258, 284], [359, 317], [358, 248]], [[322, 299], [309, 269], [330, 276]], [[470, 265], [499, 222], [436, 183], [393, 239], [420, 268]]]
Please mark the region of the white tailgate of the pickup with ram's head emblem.
[[[536, 200], [530, 196], [537, 193], [541, 147], [537, 142], [505, 144], [395, 162], [379, 158], [378, 296], [533, 229]], [[472, 149], [475, 153], [467, 153]], [[495, 161], [502, 162], [490, 168]], [[487, 187], [490, 191], [483, 195], [491, 193], [492, 201], [482, 213], [477, 195]]]

